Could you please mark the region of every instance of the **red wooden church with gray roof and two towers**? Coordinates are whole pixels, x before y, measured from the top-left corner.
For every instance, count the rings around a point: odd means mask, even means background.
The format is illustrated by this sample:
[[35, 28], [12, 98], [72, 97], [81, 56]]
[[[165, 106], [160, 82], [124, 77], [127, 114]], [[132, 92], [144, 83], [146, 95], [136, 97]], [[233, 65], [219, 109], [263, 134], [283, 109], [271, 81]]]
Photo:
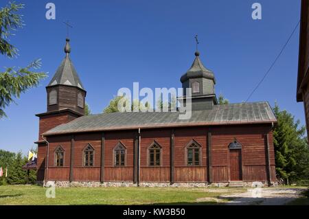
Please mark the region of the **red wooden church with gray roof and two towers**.
[[[84, 115], [86, 89], [69, 54], [46, 87], [39, 117], [38, 181], [58, 186], [273, 185], [275, 156], [268, 102], [220, 105], [214, 73], [196, 51], [181, 76], [192, 88], [192, 117], [179, 112]], [[186, 97], [184, 95], [184, 97]]]

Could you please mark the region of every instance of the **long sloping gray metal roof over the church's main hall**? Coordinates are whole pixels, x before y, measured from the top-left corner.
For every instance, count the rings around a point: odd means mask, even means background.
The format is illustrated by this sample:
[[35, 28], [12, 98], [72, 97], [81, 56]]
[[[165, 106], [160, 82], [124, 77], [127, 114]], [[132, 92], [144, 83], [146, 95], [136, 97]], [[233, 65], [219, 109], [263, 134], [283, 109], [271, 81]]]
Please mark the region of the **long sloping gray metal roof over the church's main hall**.
[[277, 122], [268, 102], [215, 105], [207, 111], [192, 111], [190, 119], [179, 119], [179, 112], [102, 113], [78, 117], [56, 126], [43, 135], [100, 130], [207, 126], [222, 124], [258, 124]]

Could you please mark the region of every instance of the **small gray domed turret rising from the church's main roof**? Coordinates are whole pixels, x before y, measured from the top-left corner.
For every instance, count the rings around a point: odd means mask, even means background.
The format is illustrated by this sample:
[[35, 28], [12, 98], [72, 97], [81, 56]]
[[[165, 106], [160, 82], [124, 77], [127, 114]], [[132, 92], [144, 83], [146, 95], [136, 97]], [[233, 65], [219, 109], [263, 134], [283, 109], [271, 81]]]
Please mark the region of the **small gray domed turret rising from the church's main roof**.
[[[183, 84], [183, 99], [192, 99], [192, 111], [211, 109], [218, 104], [214, 85], [216, 79], [214, 73], [205, 68], [200, 59], [200, 53], [195, 52], [195, 59], [189, 70], [181, 76]], [[192, 89], [192, 95], [186, 93], [186, 89]]]

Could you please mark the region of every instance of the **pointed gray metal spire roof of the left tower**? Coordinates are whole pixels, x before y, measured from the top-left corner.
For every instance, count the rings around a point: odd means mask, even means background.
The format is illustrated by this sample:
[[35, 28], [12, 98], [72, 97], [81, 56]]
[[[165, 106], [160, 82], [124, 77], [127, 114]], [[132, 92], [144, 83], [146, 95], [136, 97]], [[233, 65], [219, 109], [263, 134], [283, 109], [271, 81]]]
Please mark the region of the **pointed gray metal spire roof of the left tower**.
[[73, 87], [79, 87], [80, 89], [84, 90], [82, 86], [82, 82], [74, 68], [71, 59], [69, 57], [69, 53], [71, 52], [71, 47], [69, 46], [69, 39], [67, 39], [67, 43], [65, 45], [65, 53], [66, 56], [62, 60], [60, 67], [58, 67], [54, 77], [49, 82], [47, 87], [54, 86], [58, 84], [68, 85]]

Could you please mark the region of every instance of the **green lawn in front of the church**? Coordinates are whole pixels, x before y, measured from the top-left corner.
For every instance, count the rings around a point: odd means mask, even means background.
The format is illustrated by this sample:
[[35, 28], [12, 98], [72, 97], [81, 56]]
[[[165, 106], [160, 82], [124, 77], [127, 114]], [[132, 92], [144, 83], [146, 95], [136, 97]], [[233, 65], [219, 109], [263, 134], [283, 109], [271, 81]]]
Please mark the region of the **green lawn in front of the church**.
[[69, 187], [56, 188], [47, 198], [46, 188], [37, 185], [0, 186], [0, 205], [211, 205], [225, 203], [221, 194], [244, 192], [237, 188], [162, 187]]

